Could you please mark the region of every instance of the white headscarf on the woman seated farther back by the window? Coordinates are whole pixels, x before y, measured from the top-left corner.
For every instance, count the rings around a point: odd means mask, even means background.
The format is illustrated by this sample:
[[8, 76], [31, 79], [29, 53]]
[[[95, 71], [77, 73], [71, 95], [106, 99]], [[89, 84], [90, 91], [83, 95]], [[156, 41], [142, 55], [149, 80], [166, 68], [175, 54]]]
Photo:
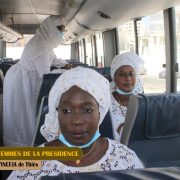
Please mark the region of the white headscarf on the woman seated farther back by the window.
[[[133, 94], [140, 94], [144, 91], [142, 79], [140, 78], [140, 72], [144, 65], [144, 61], [133, 52], [125, 52], [116, 55], [111, 63], [111, 78], [114, 80], [115, 72], [122, 66], [131, 66], [136, 72], [136, 84], [133, 90]], [[111, 91], [113, 92], [116, 88], [114, 81], [111, 82]]]

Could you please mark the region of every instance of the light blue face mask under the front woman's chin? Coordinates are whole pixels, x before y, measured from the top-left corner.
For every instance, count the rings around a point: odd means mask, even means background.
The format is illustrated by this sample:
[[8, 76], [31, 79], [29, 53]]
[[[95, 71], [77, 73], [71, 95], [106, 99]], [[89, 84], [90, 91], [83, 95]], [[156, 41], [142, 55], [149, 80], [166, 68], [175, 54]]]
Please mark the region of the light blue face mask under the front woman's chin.
[[99, 131], [96, 131], [96, 133], [94, 134], [94, 136], [92, 137], [92, 139], [88, 142], [88, 143], [86, 143], [86, 144], [84, 144], [84, 145], [81, 145], [81, 146], [75, 146], [75, 145], [73, 145], [73, 144], [70, 144], [66, 139], [65, 139], [65, 137], [63, 136], [63, 134], [61, 134], [60, 136], [59, 136], [59, 140], [63, 143], [63, 144], [65, 144], [67, 147], [78, 147], [78, 148], [87, 148], [87, 147], [89, 147], [92, 143], [94, 143], [99, 137], [100, 137], [100, 133], [99, 133]]

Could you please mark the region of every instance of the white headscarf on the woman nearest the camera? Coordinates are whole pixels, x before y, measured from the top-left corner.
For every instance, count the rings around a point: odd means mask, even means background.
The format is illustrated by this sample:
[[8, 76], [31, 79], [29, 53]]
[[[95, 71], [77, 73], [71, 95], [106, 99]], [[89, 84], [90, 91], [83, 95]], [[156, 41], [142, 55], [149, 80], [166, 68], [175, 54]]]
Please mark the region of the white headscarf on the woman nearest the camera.
[[55, 139], [60, 133], [56, 108], [59, 106], [61, 95], [72, 86], [78, 86], [96, 99], [100, 112], [99, 125], [109, 109], [110, 90], [106, 78], [95, 70], [84, 67], [77, 67], [64, 72], [56, 80], [49, 94], [49, 113], [46, 115], [45, 123], [41, 127], [41, 134], [47, 141]]

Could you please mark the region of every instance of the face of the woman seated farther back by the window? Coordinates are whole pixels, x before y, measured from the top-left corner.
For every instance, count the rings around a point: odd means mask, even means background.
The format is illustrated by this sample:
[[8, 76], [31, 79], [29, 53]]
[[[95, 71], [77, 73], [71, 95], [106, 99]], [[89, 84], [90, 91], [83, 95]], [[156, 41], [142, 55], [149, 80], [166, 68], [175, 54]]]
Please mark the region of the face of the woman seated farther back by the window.
[[131, 66], [121, 66], [114, 74], [116, 86], [124, 91], [131, 92], [136, 83], [136, 73]]

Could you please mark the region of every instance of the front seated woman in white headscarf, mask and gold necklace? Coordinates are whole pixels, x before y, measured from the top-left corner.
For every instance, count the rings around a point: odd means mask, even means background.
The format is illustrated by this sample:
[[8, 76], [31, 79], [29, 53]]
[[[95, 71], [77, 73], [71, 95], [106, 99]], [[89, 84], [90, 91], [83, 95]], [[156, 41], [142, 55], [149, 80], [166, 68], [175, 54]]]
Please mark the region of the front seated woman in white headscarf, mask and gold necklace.
[[40, 170], [14, 171], [9, 179], [39, 179], [60, 173], [142, 168], [126, 146], [100, 137], [99, 125], [110, 106], [109, 82], [93, 69], [77, 67], [63, 73], [49, 95], [49, 113], [41, 133], [43, 146], [79, 147], [78, 161], [43, 160]]

